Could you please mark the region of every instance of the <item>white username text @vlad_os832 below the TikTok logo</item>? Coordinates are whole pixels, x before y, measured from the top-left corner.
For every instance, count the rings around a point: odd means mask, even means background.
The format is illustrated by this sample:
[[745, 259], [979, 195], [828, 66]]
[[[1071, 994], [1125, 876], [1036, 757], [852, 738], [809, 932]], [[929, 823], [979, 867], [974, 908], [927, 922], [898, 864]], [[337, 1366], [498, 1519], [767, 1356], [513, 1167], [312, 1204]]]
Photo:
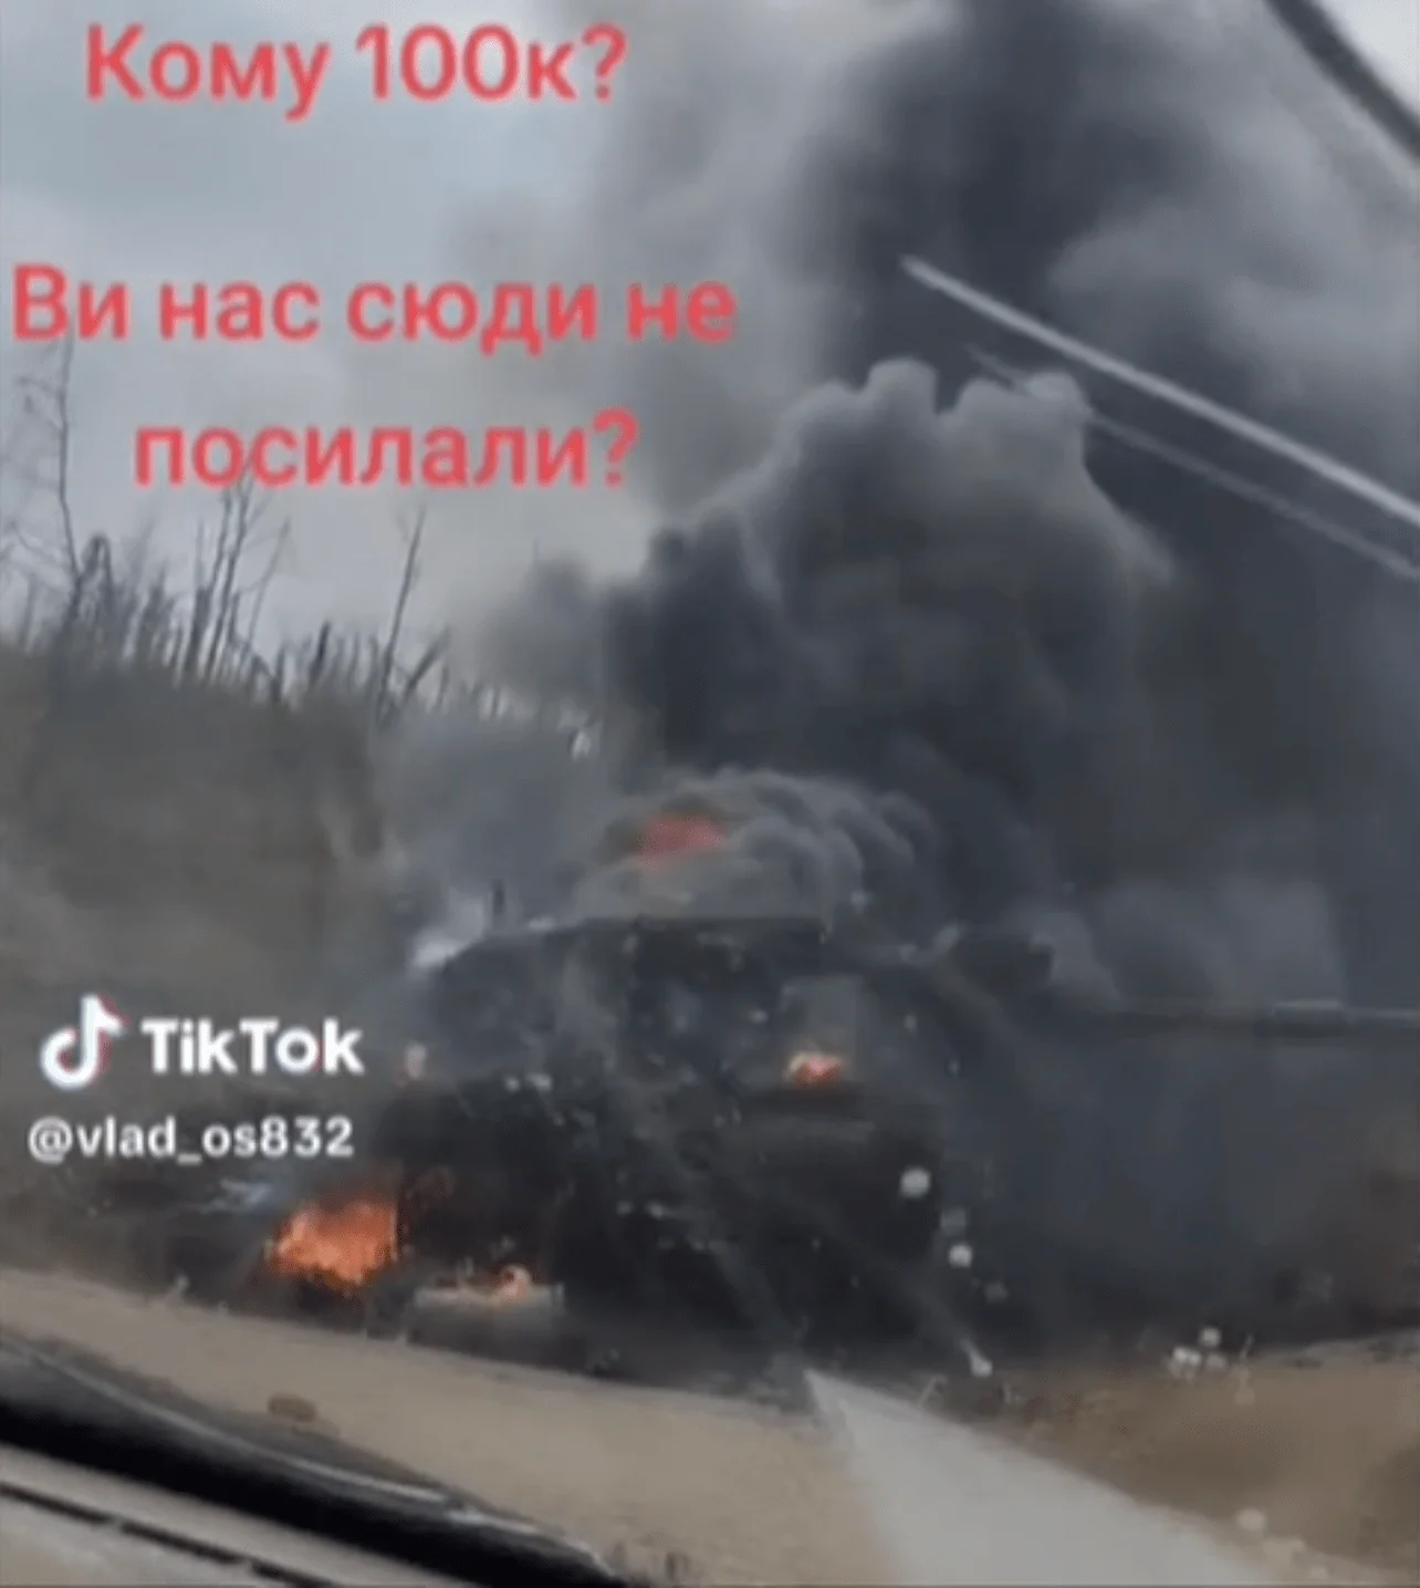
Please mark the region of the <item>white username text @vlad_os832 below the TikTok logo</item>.
[[162, 1120], [106, 1115], [84, 1123], [44, 1115], [30, 1124], [29, 1151], [32, 1161], [46, 1169], [105, 1159], [195, 1169], [222, 1162], [347, 1159], [355, 1156], [355, 1142], [354, 1126], [343, 1113], [271, 1113], [236, 1124], [211, 1121], [190, 1132], [179, 1131], [175, 1115]]

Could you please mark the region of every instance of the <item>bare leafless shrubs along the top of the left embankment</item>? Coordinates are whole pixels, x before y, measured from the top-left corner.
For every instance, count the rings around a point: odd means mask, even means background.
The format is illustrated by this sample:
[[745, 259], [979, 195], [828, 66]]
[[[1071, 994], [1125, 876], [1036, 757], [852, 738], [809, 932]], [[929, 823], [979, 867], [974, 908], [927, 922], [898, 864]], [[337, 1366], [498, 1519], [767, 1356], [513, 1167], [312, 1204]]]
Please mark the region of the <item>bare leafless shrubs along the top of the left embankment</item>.
[[384, 635], [324, 624], [314, 635], [263, 646], [271, 584], [290, 546], [290, 519], [273, 515], [248, 473], [217, 499], [216, 524], [198, 522], [186, 576], [152, 557], [151, 527], [116, 548], [73, 507], [73, 343], [49, 349], [14, 386], [0, 440], [0, 611], [8, 649], [86, 673], [122, 672], [175, 689], [300, 710], [338, 700], [371, 727], [411, 702], [460, 692], [444, 637], [416, 638], [425, 518], [400, 524], [405, 562]]

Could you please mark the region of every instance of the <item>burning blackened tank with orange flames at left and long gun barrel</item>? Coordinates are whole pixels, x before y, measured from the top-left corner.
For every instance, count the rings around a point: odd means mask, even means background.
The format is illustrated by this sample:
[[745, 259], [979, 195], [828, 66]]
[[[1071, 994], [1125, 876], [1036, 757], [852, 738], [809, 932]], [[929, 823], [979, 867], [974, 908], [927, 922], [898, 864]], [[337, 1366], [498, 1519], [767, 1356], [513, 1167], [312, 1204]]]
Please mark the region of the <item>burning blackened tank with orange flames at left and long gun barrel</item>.
[[492, 934], [428, 1004], [427, 1064], [392, 1075], [359, 1162], [228, 1167], [205, 1194], [190, 1169], [116, 1185], [111, 1208], [146, 1208], [152, 1278], [390, 1328], [430, 1285], [536, 1283], [571, 1315], [781, 1350], [1420, 1316], [1417, 1294], [1309, 1289], [1285, 1247], [1245, 1283], [1160, 1291], [1071, 1237], [1050, 1174], [1060, 1088], [1087, 1072], [1138, 1091], [1199, 1042], [1409, 1072], [1415, 1013], [1103, 1005], [1023, 937], [919, 951], [754, 918]]

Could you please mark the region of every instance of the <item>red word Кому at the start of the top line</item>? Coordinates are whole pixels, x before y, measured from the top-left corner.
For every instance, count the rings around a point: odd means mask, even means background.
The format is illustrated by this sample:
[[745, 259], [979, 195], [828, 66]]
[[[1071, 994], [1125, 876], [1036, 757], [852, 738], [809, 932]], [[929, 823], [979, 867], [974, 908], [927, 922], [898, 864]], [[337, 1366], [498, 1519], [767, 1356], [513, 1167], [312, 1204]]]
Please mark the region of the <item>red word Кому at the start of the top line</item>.
[[198, 49], [181, 40], [148, 49], [146, 37], [140, 22], [116, 37], [100, 22], [89, 29], [90, 100], [102, 102], [113, 94], [136, 105], [149, 98], [167, 105], [187, 105], [195, 98], [271, 105], [289, 91], [286, 119], [305, 121], [330, 71], [330, 44], [262, 43], [243, 54], [236, 44]]

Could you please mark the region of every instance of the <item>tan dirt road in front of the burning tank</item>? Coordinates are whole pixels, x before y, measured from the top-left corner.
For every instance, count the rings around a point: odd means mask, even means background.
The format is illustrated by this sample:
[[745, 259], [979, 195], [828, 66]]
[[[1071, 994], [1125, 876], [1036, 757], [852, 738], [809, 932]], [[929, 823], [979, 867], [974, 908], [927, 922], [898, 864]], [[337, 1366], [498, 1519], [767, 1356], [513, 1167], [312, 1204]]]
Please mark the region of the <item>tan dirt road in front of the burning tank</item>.
[[[351, 1443], [603, 1551], [620, 1550], [646, 1571], [674, 1556], [692, 1580], [725, 1585], [911, 1577], [882, 1531], [881, 1496], [831, 1418], [495, 1366], [13, 1270], [0, 1272], [0, 1320], [238, 1410], [267, 1415], [281, 1396], [309, 1402]], [[1271, 1537], [1252, 1540], [1265, 1580], [1420, 1580], [1414, 1358], [1342, 1353], [1322, 1364], [1234, 1366], [1192, 1383], [1160, 1369], [1057, 1369], [1011, 1388], [993, 1432], [1115, 1493], [1206, 1518], [1233, 1544], [1239, 1513], [1265, 1518]], [[965, 1437], [954, 1436], [955, 1455], [917, 1458], [912, 1485], [930, 1497], [933, 1485], [955, 1483], [958, 1510], [957, 1491], [974, 1470]], [[904, 1459], [901, 1447], [895, 1459]], [[1009, 1512], [1017, 1531], [1025, 1521], [1039, 1532], [1049, 1505], [1034, 1482], [1017, 1466], [996, 1485], [998, 1521]], [[1065, 1520], [1076, 1531], [1090, 1505], [1109, 1515], [1098, 1491], [1093, 1501], [1074, 1493], [1084, 1512]], [[966, 1505], [963, 1515], [984, 1512]], [[1133, 1524], [1126, 1531], [1138, 1537]], [[977, 1539], [973, 1548], [981, 1547]], [[1342, 1556], [1369, 1571], [1336, 1566]], [[1066, 1580], [1065, 1571], [1038, 1580]]]

